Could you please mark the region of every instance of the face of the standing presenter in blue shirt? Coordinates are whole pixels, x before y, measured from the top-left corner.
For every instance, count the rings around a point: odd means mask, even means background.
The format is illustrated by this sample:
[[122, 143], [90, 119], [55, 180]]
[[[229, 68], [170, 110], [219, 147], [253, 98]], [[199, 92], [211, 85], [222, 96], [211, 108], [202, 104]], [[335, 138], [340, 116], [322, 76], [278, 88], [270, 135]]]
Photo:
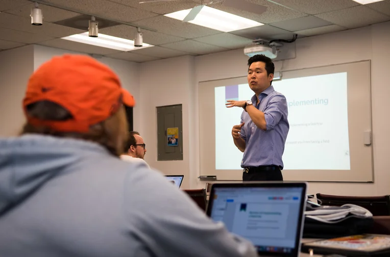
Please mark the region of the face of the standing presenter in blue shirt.
[[265, 63], [254, 62], [248, 69], [248, 84], [255, 93], [261, 93], [271, 85], [274, 74], [267, 75]]

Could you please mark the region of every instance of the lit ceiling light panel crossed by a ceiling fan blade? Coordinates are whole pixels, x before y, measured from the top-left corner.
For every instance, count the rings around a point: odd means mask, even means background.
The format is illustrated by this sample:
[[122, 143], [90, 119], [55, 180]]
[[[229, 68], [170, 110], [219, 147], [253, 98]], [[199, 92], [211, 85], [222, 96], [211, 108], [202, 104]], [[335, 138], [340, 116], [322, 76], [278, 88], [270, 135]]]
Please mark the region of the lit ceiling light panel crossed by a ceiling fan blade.
[[[165, 14], [164, 16], [183, 20], [190, 11], [191, 9], [181, 10]], [[188, 22], [223, 32], [243, 30], [264, 25], [263, 23], [217, 10], [208, 6], [204, 6], [197, 17]]]

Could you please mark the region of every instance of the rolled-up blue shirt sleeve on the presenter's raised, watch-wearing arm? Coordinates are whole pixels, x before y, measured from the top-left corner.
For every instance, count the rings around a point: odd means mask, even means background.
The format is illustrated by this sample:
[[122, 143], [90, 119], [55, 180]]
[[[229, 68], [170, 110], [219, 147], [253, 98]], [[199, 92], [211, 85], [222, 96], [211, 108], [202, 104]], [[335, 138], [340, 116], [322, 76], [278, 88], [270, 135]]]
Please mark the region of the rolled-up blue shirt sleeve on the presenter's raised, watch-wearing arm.
[[264, 109], [266, 130], [275, 129], [281, 118], [287, 117], [287, 101], [283, 95], [273, 96]]

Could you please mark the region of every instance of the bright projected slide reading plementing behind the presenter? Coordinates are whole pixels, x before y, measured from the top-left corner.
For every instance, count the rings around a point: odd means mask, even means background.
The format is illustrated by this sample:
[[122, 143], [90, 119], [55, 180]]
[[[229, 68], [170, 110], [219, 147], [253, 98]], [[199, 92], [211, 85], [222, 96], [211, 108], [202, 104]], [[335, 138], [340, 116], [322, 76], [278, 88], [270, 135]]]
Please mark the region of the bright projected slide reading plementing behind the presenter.
[[[347, 72], [274, 81], [288, 105], [283, 163], [291, 170], [349, 170]], [[215, 169], [241, 169], [242, 152], [231, 130], [242, 108], [226, 108], [227, 99], [248, 100], [248, 84], [215, 88]]]

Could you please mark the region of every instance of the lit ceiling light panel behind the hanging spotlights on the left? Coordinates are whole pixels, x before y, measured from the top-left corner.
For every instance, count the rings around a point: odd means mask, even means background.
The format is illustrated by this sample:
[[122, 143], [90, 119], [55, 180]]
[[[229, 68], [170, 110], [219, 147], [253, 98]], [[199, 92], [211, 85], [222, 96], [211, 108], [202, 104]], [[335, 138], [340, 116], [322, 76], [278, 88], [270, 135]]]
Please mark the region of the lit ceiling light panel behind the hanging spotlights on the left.
[[116, 50], [125, 51], [125, 52], [154, 46], [151, 44], [143, 43], [142, 47], [135, 47], [133, 40], [113, 37], [113, 36], [100, 34], [100, 33], [99, 33], [99, 37], [97, 37], [97, 38], [96, 37], [89, 37], [88, 32], [63, 37], [62, 39], [75, 41], [75, 42], [79, 42], [79, 43], [84, 43], [84, 44], [90, 44], [90, 45], [111, 48], [111, 49], [116, 49]]

